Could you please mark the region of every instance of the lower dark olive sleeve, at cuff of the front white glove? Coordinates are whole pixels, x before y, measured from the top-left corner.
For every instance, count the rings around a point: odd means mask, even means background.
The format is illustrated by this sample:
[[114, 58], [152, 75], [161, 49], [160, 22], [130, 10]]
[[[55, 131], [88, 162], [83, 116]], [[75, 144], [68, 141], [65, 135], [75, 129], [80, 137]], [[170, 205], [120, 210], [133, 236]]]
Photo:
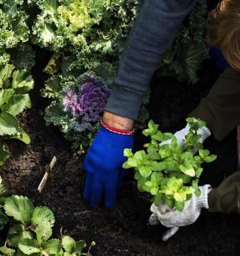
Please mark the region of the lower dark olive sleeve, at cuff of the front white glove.
[[209, 212], [240, 214], [240, 172], [227, 177], [208, 195]]

